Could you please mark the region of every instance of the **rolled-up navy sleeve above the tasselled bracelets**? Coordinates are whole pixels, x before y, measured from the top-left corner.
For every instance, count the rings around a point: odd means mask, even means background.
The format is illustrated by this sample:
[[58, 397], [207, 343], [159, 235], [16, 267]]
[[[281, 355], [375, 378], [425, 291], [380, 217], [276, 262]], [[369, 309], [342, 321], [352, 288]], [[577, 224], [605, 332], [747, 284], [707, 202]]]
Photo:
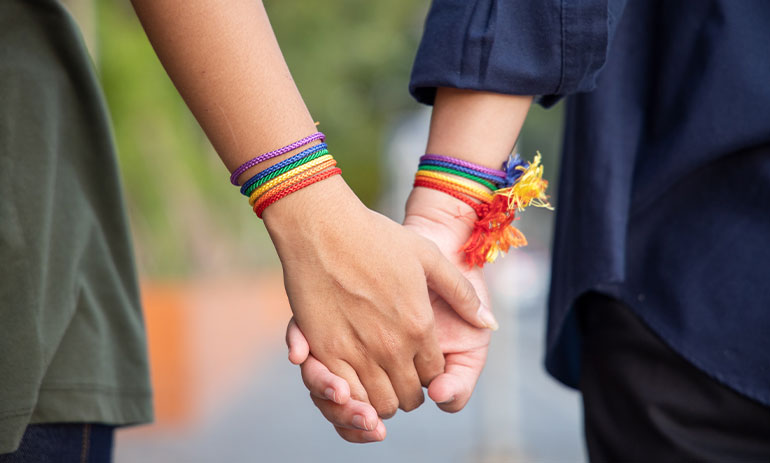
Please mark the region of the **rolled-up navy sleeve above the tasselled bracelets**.
[[536, 95], [593, 90], [626, 0], [433, 0], [410, 93], [436, 87]]

